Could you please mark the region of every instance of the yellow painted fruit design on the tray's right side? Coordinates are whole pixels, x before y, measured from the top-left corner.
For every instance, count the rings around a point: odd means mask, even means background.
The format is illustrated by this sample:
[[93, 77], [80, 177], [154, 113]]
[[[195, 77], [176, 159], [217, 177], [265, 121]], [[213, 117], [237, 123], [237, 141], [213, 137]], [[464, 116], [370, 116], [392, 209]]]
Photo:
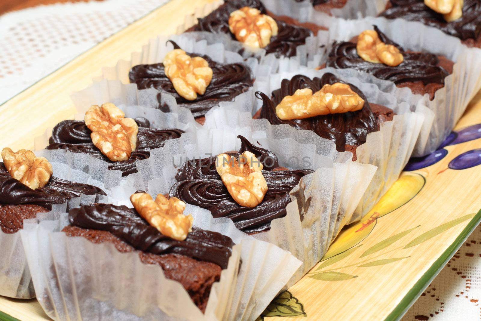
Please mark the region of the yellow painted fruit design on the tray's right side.
[[421, 191], [425, 183], [425, 178], [420, 174], [403, 173], [359, 223], [339, 233], [322, 260], [334, 257], [359, 244], [374, 229], [378, 218], [405, 205]]

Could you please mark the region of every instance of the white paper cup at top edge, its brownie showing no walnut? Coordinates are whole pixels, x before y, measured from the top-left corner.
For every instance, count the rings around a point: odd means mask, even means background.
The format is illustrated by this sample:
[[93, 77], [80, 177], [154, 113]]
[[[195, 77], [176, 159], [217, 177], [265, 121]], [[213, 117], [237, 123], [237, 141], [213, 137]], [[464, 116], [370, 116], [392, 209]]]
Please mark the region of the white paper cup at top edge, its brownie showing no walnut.
[[314, 9], [310, 0], [261, 0], [267, 10], [277, 15], [286, 15], [300, 22], [311, 22], [318, 26], [330, 26], [332, 18], [360, 19], [376, 16], [386, 7], [386, 0], [348, 0], [342, 8], [331, 9], [331, 14]]

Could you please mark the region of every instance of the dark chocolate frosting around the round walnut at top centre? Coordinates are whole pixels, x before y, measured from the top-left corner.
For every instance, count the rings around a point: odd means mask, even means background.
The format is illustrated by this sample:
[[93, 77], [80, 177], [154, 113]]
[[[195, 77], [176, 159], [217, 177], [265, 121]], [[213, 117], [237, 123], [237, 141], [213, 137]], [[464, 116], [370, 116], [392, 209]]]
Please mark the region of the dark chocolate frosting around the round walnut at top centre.
[[[204, 18], [199, 18], [199, 23], [189, 30], [223, 33], [230, 35], [233, 40], [236, 40], [234, 34], [229, 30], [229, 17], [230, 13], [242, 7], [255, 8], [261, 13], [266, 14], [266, 8], [259, 0], [228, 0]], [[295, 56], [297, 46], [304, 45], [305, 39], [309, 37], [312, 32], [307, 28], [290, 25], [279, 20], [276, 20], [276, 23], [278, 26], [278, 34], [277, 36], [271, 37], [270, 43], [264, 47], [264, 49], [267, 53], [275, 53], [277, 57]]]

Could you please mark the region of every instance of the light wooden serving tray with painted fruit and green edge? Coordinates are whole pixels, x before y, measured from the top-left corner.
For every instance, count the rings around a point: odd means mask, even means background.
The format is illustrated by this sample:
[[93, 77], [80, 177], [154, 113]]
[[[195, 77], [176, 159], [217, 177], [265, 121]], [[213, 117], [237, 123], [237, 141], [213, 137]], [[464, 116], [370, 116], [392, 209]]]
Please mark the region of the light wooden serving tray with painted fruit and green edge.
[[[209, 2], [196, 0], [195, 6]], [[192, 0], [172, 0], [2, 104], [0, 146], [33, 149], [34, 137], [75, 114], [69, 95], [87, 87], [101, 67], [129, 59], [159, 34], [174, 34], [191, 13]], [[456, 129], [477, 124], [481, 93]], [[474, 129], [468, 135], [473, 140], [434, 154], [437, 163], [404, 172], [378, 205], [345, 228], [323, 260], [259, 319], [400, 319], [481, 221], [481, 166], [452, 169], [481, 164], [481, 139], [476, 139], [481, 130]], [[466, 131], [459, 134], [466, 137]], [[0, 320], [50, 319], [36, 299], [0, 297]]]

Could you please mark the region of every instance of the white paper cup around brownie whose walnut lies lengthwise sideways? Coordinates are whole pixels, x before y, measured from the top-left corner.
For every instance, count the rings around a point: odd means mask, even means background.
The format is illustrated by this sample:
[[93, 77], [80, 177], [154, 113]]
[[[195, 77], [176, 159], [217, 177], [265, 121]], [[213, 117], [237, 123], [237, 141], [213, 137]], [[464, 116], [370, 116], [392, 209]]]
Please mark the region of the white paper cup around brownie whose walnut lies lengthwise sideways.
[[[263, 88], [263, 92], [270, 97], [273, 90], [280, 88], [282, 79], [291, 79], [291, 77], [298, 74], [310, 78], [322, 77], [322, 75], [328, 72], [359, 88], [366, 95], [368, 102], [389, 107], [397, 114], [393, 120], [381, 123], [379, 131], [367, 134], [367, 141], [356, 149], [358, 163], [375, 165], [378, 169], [365, 195], [356, 208], [354, 215], [348, 221], [348, 223], [352, 223], [366, 214], [398, 179], [418, 141], [425, 115], [429, 115], [429, 110], [421, 103], [412, 103], [409, 100], [406, 102], [398, 102], [400, 97], [380, 90], [377, 83], [382, 84], [383, 82], [379, 82], [371, 75], [357, 73], [354, 70], [325, 68], [316, 71], [302, 68], [296, 72], [273, 74], [270, 76], [269, 82], [259, 82], [258, 87]], [[322, 155], [332, 158], [334, 161], [340, 161], [338, 158], [339, 155], [344, 154], [348, 154], [348, 157], [352, 158], [351, 152], [334, 153], [334, 142], [317, 136], [311, 130], [298, 130], [288, 124], [273, 126], [267, 119], [253, 120], [252, 115], [255, 114], [261, 106], [262, 103], [258, 103], [257, 105], [252, 104], [250, 106], [237, 103], [222, 103], [220, 108], [211, 110], [207, 114], [204, 127], [224, 129], [228, 128], [228, 126], [234, 128], [236, 126], [245, 126], [262, 128], [267, 133], [273, 134], [286, 128], [291, 132], [291, 135], [298, 137], [304, 136], [304, 138], [302, 138], [303, 142], [315, 141], [318, 146], [329, 146], [330, 149], [324, 147], [318, 148], [318, 151], [320, 151]], [[411, 111], [411, 106], [413, 106], [414, 111]], [[239, 113], [235, 114], [233, 110]]]

